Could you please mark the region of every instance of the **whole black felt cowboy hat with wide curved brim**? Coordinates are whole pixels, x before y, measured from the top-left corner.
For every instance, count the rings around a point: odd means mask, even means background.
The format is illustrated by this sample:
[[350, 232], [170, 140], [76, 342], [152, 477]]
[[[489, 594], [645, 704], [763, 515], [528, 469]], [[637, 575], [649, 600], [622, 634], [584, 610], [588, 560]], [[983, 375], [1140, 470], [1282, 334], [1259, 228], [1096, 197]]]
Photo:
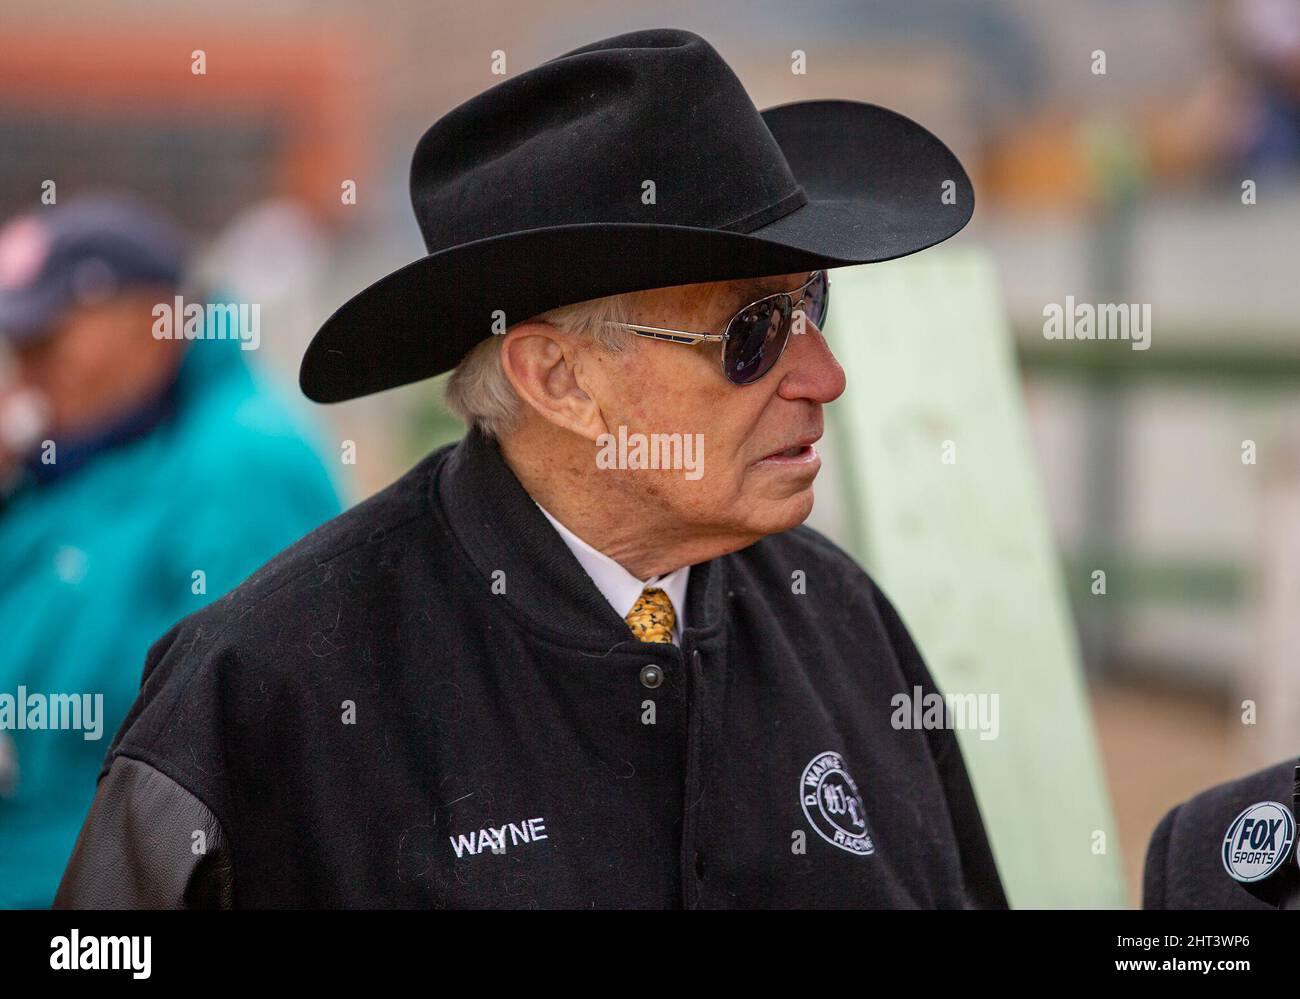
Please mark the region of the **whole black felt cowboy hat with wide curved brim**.
[[975, 195], [910, 118], [850, 100], [759, 112], [699, 35], [594, 42], [434, 122], [411, 163], [428, 255], [346, 302], [299, 382], [341, 402], [450, 371], [506, 325], [649, 287], [905, 256]]

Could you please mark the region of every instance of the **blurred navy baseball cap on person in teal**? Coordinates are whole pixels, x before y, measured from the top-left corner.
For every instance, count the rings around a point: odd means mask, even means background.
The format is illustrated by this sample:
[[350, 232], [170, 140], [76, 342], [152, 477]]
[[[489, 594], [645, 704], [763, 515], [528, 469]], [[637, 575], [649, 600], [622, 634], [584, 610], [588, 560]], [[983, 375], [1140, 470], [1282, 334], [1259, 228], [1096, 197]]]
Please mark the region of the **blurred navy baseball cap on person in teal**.
[[190, 242], [165, 215], [125, 195], [82, 195], [0, 229], [0, 338], [39, 340], [78, 304], [142, 285], [176, 287]]

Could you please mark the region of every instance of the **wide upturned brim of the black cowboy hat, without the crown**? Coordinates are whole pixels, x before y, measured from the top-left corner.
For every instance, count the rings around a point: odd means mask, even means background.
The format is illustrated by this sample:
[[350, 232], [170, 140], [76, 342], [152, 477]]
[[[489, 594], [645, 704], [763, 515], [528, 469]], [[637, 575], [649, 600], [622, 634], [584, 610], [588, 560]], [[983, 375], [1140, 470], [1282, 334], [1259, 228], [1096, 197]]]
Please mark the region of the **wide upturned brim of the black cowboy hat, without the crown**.
[[809, 100], [762, 112], [807, 204], [750, 233], [590, 222], [506, 233], [420, 258], [348, 299], [303, 356], [299, 385], [343, 402], [450, 371], [491, 334], [592, 298], [868, 264], [958, 233], [975, 195], [932, 133], [898, 112]]

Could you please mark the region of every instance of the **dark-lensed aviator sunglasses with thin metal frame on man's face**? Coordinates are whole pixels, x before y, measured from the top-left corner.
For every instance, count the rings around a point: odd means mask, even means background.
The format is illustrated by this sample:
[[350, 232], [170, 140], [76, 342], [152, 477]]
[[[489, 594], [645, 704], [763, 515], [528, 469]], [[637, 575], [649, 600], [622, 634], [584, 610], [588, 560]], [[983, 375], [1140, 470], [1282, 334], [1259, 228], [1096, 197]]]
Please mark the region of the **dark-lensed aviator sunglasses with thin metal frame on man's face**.
[[723, 375], [734, 385], [758, 381], [785, 351], [796, 316], [803, 315], [820, 329], [826, 320], [831, 281], [826, 271], [814, 271], [807, 282], [793, 291], [777, 291], [750, 302], [732, 316], [722, 333], [694, 333], [688, 329], [642, 326], [637, 323], [606, 323], [638, 337], [667, 340], [671, 343], [714, 343], [722, 341]]

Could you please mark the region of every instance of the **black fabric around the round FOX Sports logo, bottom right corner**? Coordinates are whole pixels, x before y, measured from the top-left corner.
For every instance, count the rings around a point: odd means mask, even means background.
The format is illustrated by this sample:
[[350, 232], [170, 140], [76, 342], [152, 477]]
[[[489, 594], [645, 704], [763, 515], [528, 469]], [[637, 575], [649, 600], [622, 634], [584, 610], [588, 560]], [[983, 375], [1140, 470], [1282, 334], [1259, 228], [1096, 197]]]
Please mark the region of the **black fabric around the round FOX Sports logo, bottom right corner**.
[[1171, 808], [1147, 847], [1143, 908], [1300, 908], [1294, 852], [1275, 874], [1249, 887], [1235, 881], [1223, 865], [1223, 839], [1232, 819], [1260, 801], [1278, 801], [1294, 810], [1300, 791], [1296, 777], [1296, 761], [1283, 760]]

